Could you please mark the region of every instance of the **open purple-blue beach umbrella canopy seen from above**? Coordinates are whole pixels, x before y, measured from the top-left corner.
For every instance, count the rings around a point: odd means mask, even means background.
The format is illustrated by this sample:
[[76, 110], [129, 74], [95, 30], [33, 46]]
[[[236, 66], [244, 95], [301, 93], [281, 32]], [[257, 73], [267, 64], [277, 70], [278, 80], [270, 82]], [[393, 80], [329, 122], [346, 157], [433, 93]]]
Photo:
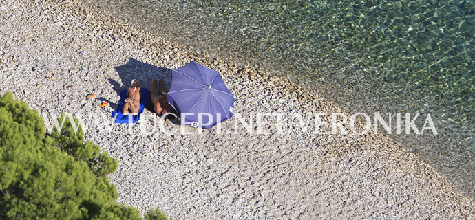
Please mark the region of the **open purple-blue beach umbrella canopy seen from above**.
[[234, 110], [234, 96], [220, 73], [195, 61], [171, 70], [167, 101], [185, 125], [204, 129], [231, 118]]

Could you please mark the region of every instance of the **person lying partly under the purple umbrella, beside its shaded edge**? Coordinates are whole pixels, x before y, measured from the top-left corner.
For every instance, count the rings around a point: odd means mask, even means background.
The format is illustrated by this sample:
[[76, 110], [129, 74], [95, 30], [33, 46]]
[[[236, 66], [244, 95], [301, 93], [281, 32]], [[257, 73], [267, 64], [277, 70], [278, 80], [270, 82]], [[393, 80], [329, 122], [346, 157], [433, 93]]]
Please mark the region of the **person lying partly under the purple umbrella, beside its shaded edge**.
[[158, 80], [158, 90], [157, 80], [151, 80], [150, 91], [151, 103], [154, 104], [154, 110], [156, 114], [164, 115], [166, 113], [176, 113], [175, 109], [167, 101], [167, 92], [165, 90], [165, 83], [163, 83], [162, 78]]

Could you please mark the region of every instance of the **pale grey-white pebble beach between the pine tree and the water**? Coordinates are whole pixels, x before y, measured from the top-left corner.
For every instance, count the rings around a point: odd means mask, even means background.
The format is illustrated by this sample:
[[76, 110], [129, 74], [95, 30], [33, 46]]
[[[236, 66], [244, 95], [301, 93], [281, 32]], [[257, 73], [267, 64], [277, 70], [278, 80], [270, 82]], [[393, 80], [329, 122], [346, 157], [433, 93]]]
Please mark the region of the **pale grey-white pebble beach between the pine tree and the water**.
[[118, 91], [132, 78], [149, 88], [162, 76], [169, 85], [169, 69], [191, 60], [220, 71], [248, 122], [259, 112], [341, 112], [286, 78], [164, 41], [94, 3], [0, 1], [0, 94], [12, 91], [47, 125], [52, 115], [80, 114], [85, 138], [119, 160], [109, 176], [118, 203], [142, 213], [160, 207], [173, 219], [475, 218], [469, 197], [379, 133], [315, 135], [287, 118], [284, 133], [264, 125], [264, 135], [255, 117], [252, 132], [236, 128], [235, 115], [221, 132], [169, 134], [180, 126], [168, 121], [161, 132], [150, 111], [140, 124], [111, 126]]

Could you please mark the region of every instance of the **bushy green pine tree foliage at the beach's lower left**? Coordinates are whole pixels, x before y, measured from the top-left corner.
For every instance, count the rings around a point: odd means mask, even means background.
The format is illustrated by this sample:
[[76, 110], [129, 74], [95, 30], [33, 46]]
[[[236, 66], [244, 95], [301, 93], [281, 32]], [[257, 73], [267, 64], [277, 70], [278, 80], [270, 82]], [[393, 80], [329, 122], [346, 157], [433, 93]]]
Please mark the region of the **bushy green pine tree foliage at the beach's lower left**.
[[69, 120], [47, 135], [36, 110], [10, 93], [0, 98], [0, 219], [140, 219], [136, 208], [114, 203], [106, 175], [117, 164]]

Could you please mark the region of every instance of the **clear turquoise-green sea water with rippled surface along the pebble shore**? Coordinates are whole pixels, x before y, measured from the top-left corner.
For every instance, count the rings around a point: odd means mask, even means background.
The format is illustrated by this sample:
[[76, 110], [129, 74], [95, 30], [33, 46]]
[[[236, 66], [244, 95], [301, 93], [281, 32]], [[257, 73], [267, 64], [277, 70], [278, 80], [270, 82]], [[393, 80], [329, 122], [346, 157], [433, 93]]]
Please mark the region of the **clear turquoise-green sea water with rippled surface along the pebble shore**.
[[99, 2], [171, 41], [292, 78], [348, 111], [431, 113], [439, 135], [394, 137], [474, 195], [475, 1]]

